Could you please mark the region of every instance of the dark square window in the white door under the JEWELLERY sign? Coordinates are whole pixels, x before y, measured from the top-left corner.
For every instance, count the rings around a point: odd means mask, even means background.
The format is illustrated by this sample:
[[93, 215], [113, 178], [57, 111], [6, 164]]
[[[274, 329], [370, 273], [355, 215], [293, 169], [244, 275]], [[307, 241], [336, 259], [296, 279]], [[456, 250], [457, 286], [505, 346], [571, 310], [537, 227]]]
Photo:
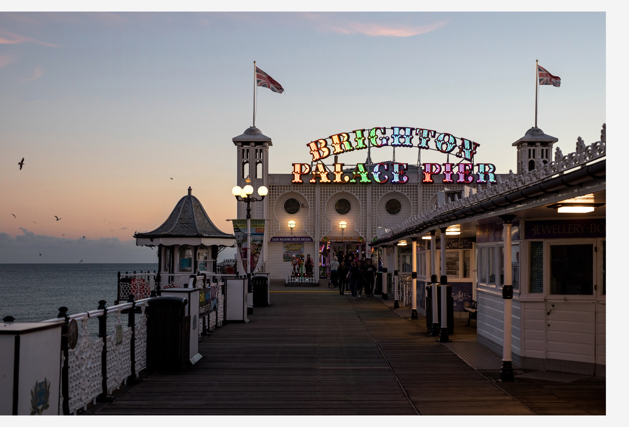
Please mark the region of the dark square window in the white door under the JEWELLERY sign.
[[591, 295], [594, 289], [593, 245], [550, 247], [550, 294]]

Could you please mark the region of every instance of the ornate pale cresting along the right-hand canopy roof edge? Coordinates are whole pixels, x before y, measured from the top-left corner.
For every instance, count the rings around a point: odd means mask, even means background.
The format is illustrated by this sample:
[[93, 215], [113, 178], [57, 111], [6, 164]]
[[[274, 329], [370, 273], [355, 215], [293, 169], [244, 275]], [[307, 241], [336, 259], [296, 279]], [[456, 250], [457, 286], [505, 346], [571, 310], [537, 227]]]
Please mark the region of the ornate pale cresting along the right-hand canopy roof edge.
[[576, 167], [581, 167], [595, 160], [599, 160], [606, 155], [606, 125], [603, 124], [603, 130], [601, 130], [601, 140], [587, 145], [581, 139], [581, 136], [577, 138], [576, 152], [568, 155], [563, 155], [560, 148], [555, 150], [555, 160], [552, 162], [544, 163], [546, 160], [540, 157], [537, 158], [537, 168], [528, 170], [520, 175], [513, 174], [512, 170], [509, 170], [509, 175], [506, 179], [503, 179], [501, 175], [496, 174], [496, 184], [488, 183], [486, 188], [482, 191], [472, 193], [468, 197], [458, 198], [455, 196], [454, 201], [447, 199], [442, 206], [437, 205], [437, 208], [428, 209], [421, 215], [415, 215], [402, 223], [394, 225], [389, 230], [382, 230], [379, 233], [378, 238], [390, 238], [395, 233], [406, 230], [406, 228], [428, 221], [428, 219], [435, 216], [440, 216], [444, 213], [452, 211], [454, 209], [464, 208], [472, 204], [493, 199], [500, 196], [503, 193], [511, 192], [515, 189], [528, 186], [529, 184], [535, 184], [535, 182], [553, 177], [555, 175], [562, 175], [568, 170]]

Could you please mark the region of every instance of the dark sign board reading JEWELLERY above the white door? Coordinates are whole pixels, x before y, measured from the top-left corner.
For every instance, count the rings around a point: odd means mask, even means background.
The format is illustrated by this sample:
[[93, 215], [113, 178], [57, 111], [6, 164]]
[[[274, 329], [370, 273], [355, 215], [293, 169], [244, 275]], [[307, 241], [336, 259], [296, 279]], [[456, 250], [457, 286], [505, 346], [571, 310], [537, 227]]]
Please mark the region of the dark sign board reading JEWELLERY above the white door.
[[605, 218], [597, 219], [550, 219], [525, 221], [526, 239], [565, 239], [605, 237]]

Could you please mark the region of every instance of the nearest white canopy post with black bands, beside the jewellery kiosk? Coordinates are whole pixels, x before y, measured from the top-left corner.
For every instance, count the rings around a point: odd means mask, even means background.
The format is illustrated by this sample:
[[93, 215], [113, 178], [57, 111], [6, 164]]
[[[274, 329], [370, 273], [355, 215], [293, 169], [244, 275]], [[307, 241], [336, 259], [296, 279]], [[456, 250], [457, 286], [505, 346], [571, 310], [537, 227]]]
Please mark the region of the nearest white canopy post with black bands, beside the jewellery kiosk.
[[511, 221], [515, 215], [501, 215], [504, 221], [504, 319], [503, 319], [503, 367], [500, 369], [500, 380], [513, 382], [513, 366], [511, 365], [511, 300], [513, 299], [513, 285], [511, 284]]

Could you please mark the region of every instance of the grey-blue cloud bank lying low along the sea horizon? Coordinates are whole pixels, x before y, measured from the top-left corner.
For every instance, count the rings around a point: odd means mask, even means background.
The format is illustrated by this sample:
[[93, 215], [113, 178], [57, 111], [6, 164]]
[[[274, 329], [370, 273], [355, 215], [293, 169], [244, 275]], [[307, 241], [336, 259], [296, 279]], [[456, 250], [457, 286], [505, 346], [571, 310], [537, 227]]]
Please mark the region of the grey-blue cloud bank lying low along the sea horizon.
[[[0, 263], [136, 263], [155, 262], [155, 251], [138, 247], [135, 240], [118, 238], [77, 240], [36, 235], [20, 228], [22, 235], [12, 238], [0, 233]], [[42, 254], [41, 256], [39, 254]]]

